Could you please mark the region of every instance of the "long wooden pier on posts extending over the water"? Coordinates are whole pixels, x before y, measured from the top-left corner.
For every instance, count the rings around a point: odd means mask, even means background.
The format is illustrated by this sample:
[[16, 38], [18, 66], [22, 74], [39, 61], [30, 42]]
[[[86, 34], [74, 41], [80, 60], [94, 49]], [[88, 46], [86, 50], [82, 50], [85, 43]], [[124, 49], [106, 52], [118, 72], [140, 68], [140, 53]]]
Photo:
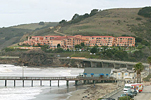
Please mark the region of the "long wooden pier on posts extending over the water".
[[7, 81], [13, 80], [14, 87], [16, 86], [16, 81], [22, 81], [22, 86], [25, 86], [25, 81], [31, 81], [31, 87], [33, 87], [34, 81], [40, 81], [40, 86], [42, 86], [42, 81], [49, 81], [51, 86], [51, 81], [66, 81], [66, 86], [69, 86], [69, 81], [75, 81], [75, 85], [78, 85], [78, 82], [81, 81], [83, 84], [95, 84], [96, 82], [117, 82], [118, 80], [113, 78], [100, 78], [100, 77], [9, 77], [9, 76], [1, 76], [0, 80], [4, 80], [4, 86], [7, 87]]

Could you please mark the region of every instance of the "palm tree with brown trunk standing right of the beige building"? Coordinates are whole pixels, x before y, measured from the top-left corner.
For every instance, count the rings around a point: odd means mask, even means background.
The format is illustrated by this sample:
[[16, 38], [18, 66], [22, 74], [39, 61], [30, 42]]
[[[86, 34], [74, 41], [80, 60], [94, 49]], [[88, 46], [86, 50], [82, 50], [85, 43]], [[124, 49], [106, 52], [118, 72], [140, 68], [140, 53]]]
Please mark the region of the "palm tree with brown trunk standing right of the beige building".
[[144, 70], [144, 65], [139, 62], [134, 65], [134, 70], [137, 73], [137, 83], [141, 82], [141, 72]]

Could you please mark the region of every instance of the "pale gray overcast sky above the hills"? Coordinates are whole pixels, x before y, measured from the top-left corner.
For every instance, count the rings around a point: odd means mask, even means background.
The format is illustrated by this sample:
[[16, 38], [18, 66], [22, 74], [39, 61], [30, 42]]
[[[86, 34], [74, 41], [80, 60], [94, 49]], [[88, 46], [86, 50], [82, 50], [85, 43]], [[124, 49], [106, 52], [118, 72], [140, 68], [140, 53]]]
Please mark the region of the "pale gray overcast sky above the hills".
[[0, 0], [0, 27], [19, 24], [59, 22], [92, 9], [140, 8], [151, 0]]

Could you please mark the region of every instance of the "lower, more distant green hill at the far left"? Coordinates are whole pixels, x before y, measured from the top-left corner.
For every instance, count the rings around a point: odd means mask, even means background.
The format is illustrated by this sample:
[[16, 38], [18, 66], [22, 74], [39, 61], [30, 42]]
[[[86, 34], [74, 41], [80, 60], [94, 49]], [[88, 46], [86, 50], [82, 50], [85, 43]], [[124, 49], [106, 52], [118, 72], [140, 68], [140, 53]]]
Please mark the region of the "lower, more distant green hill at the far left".
[[39, 23], [31, 23], [0, 28], [0, 50], [7, 46], [18, 44], [20, 41], [26, 40], [27, 39], [26, 37], [31, 35], [33, 31], [42, 32], [41, 30], [43, 29], [50, 30], [50, 28], [53, 28], [57, 24], [58, 24], [57, 22], [45, 22], [42, 25], [40, 25]]

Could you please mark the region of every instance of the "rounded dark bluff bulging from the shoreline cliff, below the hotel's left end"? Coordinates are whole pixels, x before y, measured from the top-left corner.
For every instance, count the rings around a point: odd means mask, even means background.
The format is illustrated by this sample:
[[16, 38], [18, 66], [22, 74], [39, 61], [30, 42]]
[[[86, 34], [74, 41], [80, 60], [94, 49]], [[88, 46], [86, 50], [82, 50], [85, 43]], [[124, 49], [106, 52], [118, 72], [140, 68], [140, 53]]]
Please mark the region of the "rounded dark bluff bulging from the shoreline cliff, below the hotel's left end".
[[59, 63], [54, 63], [53, 60], [41, 50], [31, 50], [20, 55], [19, 63], [27, 66], [57, 66]]

